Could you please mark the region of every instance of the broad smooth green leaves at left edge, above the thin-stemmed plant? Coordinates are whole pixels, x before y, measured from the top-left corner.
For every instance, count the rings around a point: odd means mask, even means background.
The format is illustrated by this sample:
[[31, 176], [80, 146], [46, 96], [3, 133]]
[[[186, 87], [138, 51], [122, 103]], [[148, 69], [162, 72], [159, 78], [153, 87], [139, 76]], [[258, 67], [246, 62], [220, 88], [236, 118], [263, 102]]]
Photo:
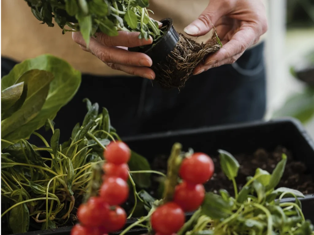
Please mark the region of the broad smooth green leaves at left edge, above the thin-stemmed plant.
[[53, 120], [81, 82], [81, 73], [51, 55], [25, 60], [1, 78], [1, 149]]

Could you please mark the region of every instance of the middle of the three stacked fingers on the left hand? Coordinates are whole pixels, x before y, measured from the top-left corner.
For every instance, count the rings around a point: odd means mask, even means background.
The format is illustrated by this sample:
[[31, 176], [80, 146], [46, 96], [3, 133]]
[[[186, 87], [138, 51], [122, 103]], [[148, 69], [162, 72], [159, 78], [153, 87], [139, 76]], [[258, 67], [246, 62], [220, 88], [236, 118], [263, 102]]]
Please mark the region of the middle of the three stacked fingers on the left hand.
[[153, 64], [152, 59], [144, 53], [127, 51], [114, 46], [105, 46], [94, 38], [90, 40], [89, 51], [105, 63], [146, 67], [150, 67]]

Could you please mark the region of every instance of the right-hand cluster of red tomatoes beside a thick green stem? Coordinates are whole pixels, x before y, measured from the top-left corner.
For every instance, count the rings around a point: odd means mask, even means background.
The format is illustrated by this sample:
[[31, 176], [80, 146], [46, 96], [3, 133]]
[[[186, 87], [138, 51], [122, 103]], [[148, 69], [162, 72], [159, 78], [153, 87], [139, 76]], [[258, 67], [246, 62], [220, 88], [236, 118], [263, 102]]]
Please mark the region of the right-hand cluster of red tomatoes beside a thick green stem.
[[173, 202], [159, 206], [151, 217], [156, 234], [172, 235], [185, 222], [184, 211], [194, 211], [201, 206], [205, 189], [203, 183], [214, 174], [213, 160], [204, 153], [194, 153], [183, 159], [179, 176], [182, 182], [175, 188]]

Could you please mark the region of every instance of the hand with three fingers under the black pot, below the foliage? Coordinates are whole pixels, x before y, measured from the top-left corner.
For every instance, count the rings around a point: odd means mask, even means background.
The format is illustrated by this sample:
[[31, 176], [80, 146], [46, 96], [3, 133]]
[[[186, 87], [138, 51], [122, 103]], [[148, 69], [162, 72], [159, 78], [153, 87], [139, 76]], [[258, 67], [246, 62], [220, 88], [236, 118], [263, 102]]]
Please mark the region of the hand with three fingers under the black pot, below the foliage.
[[155, 73], [149, 68], [153, 63], [151, 58], [143, 53], [127, 50], [127, 47], [149, 45], [153, 42], [152, 38], [139, 39], [138, 35], [137, 32], [125, 31], [120, 31], [119, 35], [114, 37], [97, 33], [95, 38], [90, 39], [88, 49], [80, 32], [72, 33], [72, 38], [84, 51], [91, 52], [109, 67], [131, 75], [154, 79]]

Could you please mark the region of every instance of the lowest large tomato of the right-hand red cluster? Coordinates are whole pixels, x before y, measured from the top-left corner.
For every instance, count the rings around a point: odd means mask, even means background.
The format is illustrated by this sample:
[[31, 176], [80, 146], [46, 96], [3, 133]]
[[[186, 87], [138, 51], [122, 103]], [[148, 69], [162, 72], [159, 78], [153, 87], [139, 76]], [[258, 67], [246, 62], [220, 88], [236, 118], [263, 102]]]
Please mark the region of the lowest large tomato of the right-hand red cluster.
[[150, 222], [155, 232], [172, 234], [183, 226], [185, 215], [180, 206], [174, 202], [168, 202], [154, 211]]

